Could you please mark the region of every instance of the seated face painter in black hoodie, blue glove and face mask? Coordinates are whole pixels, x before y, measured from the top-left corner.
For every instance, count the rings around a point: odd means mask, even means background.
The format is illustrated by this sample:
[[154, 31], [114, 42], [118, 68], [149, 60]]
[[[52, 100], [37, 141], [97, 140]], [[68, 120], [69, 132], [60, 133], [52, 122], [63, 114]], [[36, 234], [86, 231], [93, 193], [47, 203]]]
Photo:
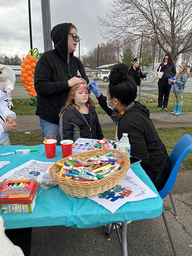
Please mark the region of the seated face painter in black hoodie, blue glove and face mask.
[[112, 68], [109, 75], [108, 97], [99, 93], [95, 84], [91, 84], [91, 89], [97, 95], [100, 106], [117, 124], [116, 140], [120, 140], [123, 133], [128, 133], [131, 155], [142, 160], [141, 167], [160, 191], [171, 173], [171, 160], [149, 118], [149, 110], [134, 101], [137, 87], [127, 73], [128, 68], [125, 64], [118, 64]]

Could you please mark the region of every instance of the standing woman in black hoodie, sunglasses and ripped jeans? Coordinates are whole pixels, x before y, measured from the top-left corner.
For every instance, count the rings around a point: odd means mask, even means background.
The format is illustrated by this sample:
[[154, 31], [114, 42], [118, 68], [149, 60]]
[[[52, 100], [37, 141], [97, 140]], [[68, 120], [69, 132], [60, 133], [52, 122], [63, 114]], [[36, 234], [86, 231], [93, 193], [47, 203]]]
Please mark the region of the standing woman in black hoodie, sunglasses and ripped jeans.
[[73, 55], [79, 41], [76, 27], [72, 23], [58, 24], [52, 28], [51, 38], [54, 49], [44, 52], [35, 68], [36, 115], [40, 117], [43, 137], [55, 138], [60, 145], [59, 113], [68, 90], [89, 80], [82, 62]]

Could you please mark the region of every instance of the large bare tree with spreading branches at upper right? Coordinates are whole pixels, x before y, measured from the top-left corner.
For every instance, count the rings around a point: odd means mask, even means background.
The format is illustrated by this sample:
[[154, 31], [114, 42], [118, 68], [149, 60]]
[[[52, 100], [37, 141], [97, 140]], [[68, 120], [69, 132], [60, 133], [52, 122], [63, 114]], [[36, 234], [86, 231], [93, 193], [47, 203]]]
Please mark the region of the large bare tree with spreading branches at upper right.
[[98, 18], [103, 38], [137, 40], [143, 31], [174, 61], [192, 50], [191, 0], [114, 0], [107, 18]]

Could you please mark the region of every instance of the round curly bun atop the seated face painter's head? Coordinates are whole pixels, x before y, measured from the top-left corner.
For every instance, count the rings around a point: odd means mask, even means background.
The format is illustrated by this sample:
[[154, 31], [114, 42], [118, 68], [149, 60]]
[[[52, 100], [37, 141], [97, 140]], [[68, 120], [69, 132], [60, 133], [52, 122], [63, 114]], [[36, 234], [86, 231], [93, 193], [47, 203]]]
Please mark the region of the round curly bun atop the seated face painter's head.
[[124, 63], [117, 64], [111, 69], [109, 74], [109, 83], [117, 84], [120, 81], [123, 81], [128, 76], [128, 67]]

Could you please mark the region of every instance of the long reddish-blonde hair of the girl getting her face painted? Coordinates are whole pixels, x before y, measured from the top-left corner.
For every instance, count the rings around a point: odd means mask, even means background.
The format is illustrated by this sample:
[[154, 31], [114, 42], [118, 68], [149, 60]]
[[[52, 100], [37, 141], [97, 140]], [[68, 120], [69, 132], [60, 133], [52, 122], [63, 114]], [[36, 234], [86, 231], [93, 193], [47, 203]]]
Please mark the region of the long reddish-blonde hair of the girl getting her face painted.
[[[75, 104], [75, 100], [73, 99], [73, 97], [75, 95], [76, 90], [81, 88], [82, 86], [87, 86], [87, 84], [85, 84], [85, 83], [76, 84], [76, 85], [74, 85], [73, 87], [71, 87], [69, 89], [67, 101], [66, 101], [65, 105], [61, 108], [61, 111], [59, 113], [59, 117], [61, 116], [61, 114], [63, 113], [63, 111], [65, 109], [71, 110], [73, 108], [73, 106], [69, 106], [71, 103], [74, 106], [76, 106], [77, 108], [79, 108], [79, 106], [77, 104]], [[90, 94], [90, 90], [89, 89], [88, 89], [88, 92]], [[88, 106], [89, 104], [92, 105], [92, 106], [95, 106], [94, 101], [90, 97], [88, 98], [87, 102], [85, 103], [85, 106]]]

